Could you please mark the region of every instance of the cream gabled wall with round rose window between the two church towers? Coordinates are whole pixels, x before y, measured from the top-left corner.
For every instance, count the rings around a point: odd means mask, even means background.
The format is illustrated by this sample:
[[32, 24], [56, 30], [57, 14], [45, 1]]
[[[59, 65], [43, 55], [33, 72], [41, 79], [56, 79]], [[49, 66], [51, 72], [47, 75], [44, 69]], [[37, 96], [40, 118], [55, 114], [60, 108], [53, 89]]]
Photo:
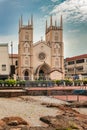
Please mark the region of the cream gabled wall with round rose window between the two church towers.
[[36, 68], [43, 62], [51, 64], [51, 48], [44, 42], [39, 42], [33, 47], [33, 60]]

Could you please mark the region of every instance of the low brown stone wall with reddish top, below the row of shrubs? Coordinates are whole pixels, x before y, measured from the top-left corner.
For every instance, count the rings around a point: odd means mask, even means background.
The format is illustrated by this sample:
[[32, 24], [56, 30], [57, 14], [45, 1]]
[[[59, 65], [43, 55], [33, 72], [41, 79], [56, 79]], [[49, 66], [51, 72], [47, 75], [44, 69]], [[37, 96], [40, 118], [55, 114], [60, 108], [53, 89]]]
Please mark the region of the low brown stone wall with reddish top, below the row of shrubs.
[[[55, 89], [55, 88], [0, 88], [0, 97], [17, 97], [17, 96], [55, 96], [55, 95], [77, 95], [73, 89]], [[85, 94], [84, 94], [85, 95]]]

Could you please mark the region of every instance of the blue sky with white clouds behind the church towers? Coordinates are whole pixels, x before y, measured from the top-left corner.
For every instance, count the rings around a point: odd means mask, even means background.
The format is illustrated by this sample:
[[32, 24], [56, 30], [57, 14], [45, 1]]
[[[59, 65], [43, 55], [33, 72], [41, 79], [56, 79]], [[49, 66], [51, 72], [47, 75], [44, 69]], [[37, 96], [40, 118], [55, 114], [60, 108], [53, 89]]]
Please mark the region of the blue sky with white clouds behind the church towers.
[[13, 53], [18, 53], [19, 18], [23, 24], [33, 15], [34, 38], [45, 40], [45, 21], [60, 23], [63, 16], [64, 58], [87, 54], [87, 0], [0, 0], [0, 43], [13, 42]]

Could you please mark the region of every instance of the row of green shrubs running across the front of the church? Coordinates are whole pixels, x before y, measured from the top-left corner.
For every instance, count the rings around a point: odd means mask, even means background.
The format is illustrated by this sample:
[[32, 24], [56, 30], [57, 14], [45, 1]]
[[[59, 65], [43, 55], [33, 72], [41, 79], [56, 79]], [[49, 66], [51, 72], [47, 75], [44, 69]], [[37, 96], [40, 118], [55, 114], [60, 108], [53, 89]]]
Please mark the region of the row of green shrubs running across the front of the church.
[[39, 87], [39, 86], [54, 86], [55, 84], [57, 86], [60, 85], [65, 85], [65, 86], [72, 86], [73, 82], [74, 85], [87, 85], [87, 79], [84, 80], [70, 80], [70, 79], [65, 79], [65, 80], [35, 80], [35, 81], [25, 81], [25, 80], [17, 80], [15, 81], [14, 79], [7, 79], [7, 80], [0, 80], [0, 86], [25, 86], [26, 82], [29, 82], [29, 84], [32, 87]]

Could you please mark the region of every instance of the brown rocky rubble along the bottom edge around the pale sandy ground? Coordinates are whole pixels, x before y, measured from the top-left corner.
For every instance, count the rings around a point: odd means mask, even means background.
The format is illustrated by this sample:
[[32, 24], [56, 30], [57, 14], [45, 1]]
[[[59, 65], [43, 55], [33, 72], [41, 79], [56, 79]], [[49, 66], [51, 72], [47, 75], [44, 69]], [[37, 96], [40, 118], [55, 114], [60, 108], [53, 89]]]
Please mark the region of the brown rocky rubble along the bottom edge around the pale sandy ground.
[[[86, 103], [82, 103], [85, 104]], [[44, 116], [40, 120], [48, 124], [47, 127], [31, 127], [28, 122], [21, 117], [5, 117], [0, 120], [0, 130], [87, 130], [87, 115], [74, 110], [71, 105], [58, 105], [54, 103], [44, 103], [47, 107], [56, 107], [61, 113], [56, 116]], [[78, 106], [81, 106], [79, 103]]]

